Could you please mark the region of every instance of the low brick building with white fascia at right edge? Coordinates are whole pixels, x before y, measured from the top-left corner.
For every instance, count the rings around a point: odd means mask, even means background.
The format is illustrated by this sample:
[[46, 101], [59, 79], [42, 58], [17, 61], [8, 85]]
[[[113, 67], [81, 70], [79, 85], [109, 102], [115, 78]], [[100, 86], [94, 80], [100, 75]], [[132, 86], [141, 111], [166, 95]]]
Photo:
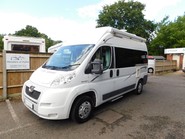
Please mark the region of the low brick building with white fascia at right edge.
[[167, 55], [167, 60], [177, 61], [177, 69], [185, 67], [185, 48], [165, 49], [164, 54]]

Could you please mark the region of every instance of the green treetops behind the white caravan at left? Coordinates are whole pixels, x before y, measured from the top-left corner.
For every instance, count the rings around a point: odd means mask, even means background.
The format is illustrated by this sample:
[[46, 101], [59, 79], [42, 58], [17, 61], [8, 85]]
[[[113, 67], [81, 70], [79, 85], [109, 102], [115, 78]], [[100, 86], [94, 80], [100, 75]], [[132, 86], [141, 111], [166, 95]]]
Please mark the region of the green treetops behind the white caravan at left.
[[46, 34], [40, 33], [37, 28], [32, 27], [30, 25], [27, 25], [25, 29], [21, 29], [19, 31], [16, 31], [16, 36], [28, 36], [28, 37], [40, 37], [45, 39], [46, 43], [46, 50], [56, 43], [59, 43], [61, 41], [54, 41], [51, 38], [49, 38]]

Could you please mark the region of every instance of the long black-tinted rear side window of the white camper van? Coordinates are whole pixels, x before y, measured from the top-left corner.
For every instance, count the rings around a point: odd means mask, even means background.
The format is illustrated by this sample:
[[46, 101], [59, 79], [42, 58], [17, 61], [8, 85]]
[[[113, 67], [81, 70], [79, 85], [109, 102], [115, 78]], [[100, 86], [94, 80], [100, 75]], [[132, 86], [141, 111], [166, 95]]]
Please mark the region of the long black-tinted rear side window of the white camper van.
[[147, 63], [147, 52], [115, 48], [116, 68], [133, 67], [136, 64]]

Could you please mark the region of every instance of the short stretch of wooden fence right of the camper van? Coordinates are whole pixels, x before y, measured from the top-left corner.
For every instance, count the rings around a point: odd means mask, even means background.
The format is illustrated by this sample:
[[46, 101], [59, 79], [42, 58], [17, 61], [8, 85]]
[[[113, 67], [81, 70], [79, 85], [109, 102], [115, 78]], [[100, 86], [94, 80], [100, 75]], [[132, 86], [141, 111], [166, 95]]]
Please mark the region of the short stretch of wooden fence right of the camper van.
[[177, 70], [176, 60], [156, 60], [155, 73], [167, 72]]

